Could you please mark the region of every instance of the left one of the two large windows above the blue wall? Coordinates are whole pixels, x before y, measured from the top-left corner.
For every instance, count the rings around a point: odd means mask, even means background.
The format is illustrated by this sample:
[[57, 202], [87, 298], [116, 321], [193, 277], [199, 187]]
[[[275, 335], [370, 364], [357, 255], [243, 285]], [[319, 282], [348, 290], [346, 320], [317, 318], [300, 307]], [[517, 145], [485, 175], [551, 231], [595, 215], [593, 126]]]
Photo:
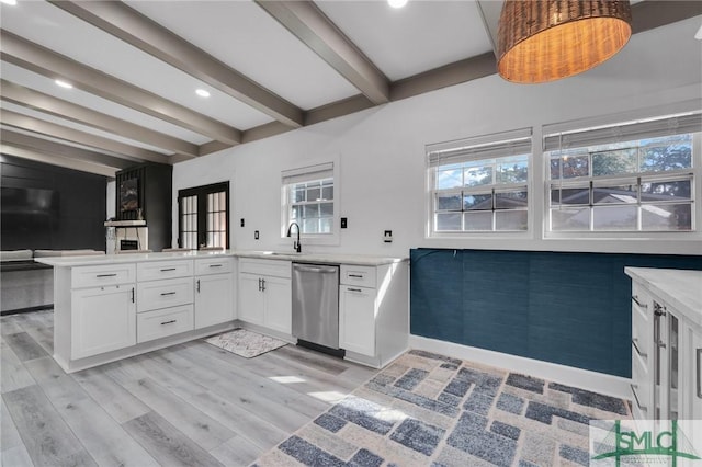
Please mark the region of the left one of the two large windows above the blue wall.
[[531, 128], [427, 147], [431, 235], [523, 231]]

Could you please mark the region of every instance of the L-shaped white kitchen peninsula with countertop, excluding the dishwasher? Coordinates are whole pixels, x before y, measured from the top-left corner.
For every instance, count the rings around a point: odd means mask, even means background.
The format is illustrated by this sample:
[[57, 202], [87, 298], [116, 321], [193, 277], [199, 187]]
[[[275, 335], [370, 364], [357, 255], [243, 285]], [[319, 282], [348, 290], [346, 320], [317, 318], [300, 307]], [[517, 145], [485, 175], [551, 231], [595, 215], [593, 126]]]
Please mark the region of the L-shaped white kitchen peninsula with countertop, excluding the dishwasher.
[[[68, 373], [237, 327], [295, 343], [293, 262], [340, 266], [339, 345], [347, 360], [382, 367], [407, 349], [406, 259], [188, 251], [36, 261], [54, 266], [54, 360]], [[256, 278], [258, 291], [247, 286]]]

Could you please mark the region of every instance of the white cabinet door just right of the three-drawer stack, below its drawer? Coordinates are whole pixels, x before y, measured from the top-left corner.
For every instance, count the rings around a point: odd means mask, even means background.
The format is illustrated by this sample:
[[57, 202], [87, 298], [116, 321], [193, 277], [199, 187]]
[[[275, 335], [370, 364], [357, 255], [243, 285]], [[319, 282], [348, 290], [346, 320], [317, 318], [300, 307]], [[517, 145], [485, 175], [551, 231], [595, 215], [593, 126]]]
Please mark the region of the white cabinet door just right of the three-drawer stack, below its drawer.
[[231, 274], [195, 277], [195, 329], [234, 320]]

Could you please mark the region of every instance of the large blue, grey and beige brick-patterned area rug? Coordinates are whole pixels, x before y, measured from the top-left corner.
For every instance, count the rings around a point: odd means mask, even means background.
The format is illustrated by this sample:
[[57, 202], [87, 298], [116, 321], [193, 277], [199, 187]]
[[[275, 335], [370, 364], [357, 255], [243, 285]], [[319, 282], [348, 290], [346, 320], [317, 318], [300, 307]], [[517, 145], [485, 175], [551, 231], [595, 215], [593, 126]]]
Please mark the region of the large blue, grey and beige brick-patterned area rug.
[[589, 465], [590, 420], [621, 399], [410, 351], [253, 465]]

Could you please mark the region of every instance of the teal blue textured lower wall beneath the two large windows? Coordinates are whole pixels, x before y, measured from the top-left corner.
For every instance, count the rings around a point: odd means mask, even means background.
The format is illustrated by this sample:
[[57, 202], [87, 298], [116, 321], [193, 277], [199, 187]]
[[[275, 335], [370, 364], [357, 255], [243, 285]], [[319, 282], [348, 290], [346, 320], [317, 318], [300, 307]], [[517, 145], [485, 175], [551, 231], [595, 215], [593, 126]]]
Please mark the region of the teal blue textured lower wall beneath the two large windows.
[[624, 266], [702, 270], [702, 257], [414, 249], [410, 330], [631, 376]]

